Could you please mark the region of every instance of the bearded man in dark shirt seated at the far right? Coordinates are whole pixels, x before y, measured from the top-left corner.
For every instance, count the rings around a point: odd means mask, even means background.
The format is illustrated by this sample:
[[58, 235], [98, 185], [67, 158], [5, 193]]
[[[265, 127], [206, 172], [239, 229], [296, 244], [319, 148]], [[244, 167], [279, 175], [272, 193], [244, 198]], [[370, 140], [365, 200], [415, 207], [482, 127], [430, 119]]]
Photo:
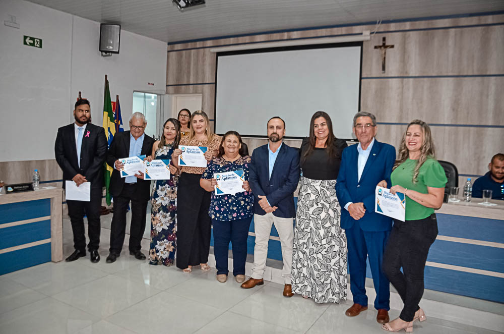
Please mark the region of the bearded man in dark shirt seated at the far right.
[[504, 154], [497, 153], [488, 164], [488, 171], [476, 179], [473, 184], [472, 197], [483, 197], [483, 190], [492, 191], [492, 199], [504, 200]]

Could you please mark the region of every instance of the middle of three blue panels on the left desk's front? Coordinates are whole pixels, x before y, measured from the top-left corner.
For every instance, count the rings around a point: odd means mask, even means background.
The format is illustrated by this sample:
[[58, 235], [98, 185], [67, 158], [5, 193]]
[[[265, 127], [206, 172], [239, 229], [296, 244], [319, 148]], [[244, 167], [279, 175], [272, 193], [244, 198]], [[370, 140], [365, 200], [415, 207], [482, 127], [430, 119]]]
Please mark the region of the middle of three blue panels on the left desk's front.
[[28, 244], [51, 237], [51, 220], [42, 220], [0, 229], [0, 249]]

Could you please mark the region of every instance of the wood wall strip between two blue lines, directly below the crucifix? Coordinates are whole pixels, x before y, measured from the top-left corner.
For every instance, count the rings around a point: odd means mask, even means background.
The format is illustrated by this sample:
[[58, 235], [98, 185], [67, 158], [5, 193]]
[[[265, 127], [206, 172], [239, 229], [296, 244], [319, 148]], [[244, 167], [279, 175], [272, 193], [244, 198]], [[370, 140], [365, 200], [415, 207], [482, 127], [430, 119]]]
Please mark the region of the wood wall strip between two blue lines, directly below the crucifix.
[[504, 77], [368, 79], [361, 109], [379, 122], [504, 125], [502, 87]]

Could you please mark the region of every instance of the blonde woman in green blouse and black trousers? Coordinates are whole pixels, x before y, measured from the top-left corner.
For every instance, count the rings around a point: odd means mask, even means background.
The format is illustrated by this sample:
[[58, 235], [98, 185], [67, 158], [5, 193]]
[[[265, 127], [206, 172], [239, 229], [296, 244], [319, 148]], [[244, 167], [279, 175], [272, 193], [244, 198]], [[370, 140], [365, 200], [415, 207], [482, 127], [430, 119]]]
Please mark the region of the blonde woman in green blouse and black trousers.
[[[412, 121], [390, 177], [390, 192], [406, 195], [406, 219], [394, 219], [383, 258], [383, 271], [404, 302], [399, 318], [383, 325], [388, 331], [413, 331], [413, 321], [426, 319], [418, 303], [423, 295], [425, 262], [437, 236], [434, 209], [443, 204], [447, 183], [434, 152], [429, 126], [420, 120]], [[382, 181], [379, 186], [387, 187], [387, 183]]]

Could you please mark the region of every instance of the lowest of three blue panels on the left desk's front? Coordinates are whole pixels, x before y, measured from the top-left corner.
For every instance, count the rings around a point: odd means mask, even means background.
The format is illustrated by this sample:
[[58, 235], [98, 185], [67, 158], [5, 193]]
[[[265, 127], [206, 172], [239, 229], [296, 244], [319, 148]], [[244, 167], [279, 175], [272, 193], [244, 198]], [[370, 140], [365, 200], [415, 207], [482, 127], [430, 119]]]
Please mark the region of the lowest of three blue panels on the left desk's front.
[[51, 261], [51, 244], [0, 254], [0, 275]]

